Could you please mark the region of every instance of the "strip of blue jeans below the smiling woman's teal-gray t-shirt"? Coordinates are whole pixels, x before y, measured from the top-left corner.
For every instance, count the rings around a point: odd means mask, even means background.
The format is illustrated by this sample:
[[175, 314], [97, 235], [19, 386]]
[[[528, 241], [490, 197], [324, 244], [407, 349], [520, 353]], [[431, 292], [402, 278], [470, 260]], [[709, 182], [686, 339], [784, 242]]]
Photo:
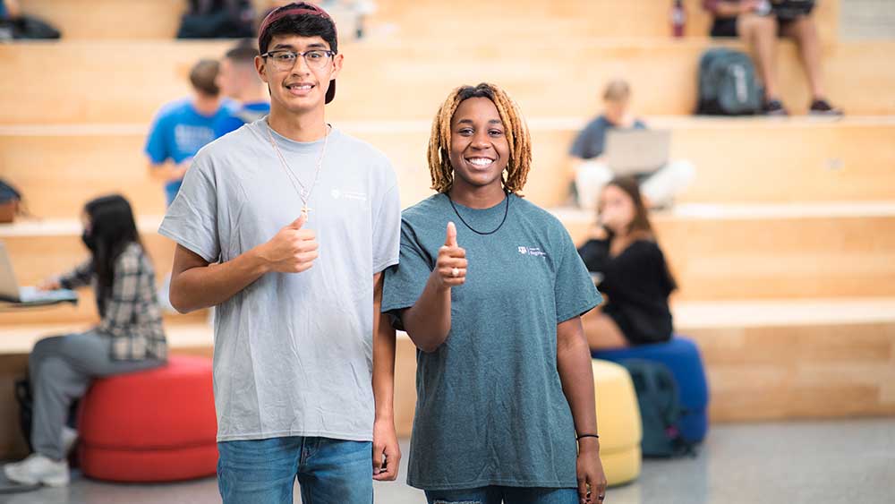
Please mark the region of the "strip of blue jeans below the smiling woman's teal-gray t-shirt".
[[578, 504], [576, 488], [486, 486], [426, 491], [429, 504]]

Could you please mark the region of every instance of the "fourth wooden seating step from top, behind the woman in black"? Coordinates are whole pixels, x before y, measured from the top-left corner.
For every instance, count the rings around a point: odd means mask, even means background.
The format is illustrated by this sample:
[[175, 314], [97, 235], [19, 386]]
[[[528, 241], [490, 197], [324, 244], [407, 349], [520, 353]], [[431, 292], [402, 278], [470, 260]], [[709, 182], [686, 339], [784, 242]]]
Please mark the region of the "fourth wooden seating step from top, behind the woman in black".
[[[590, 212], [555, 213], [575, 242], [583, 243], [592, 226]], [[680, 284], [679, 300], [895, 296], [891, 203], [680, 205], [653, 220]], [[158, 222], [144, 219], [141, 233], [163, 274], [170, 269], [173, 244], [155, 235]], [[33, 233], [17, 231], [27, 226]], [[74, 219], [59, 231], [40, 232], [50, 226], [0, 226], [23, 284], [83, 257]]]

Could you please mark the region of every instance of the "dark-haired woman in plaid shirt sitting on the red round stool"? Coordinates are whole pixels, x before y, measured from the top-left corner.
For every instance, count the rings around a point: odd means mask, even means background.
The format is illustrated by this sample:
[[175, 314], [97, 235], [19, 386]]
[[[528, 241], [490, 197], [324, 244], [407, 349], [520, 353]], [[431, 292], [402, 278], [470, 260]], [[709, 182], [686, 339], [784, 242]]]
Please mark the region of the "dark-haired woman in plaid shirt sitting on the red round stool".
[[23, 484], [69, 483], [65, 421], [72, 401], [94, 378], [158, 367], [167, 345], [155, 291], [155, 274], [143, 250], [131, 205], [121, 196], [90, 201], [81, 216], [90, 259], [39, 288], [93, 286], [101, 318], [86, 332], [38, 341], [28, 361], [34, 397], [34, 453], [4, 466], [6, 477]]

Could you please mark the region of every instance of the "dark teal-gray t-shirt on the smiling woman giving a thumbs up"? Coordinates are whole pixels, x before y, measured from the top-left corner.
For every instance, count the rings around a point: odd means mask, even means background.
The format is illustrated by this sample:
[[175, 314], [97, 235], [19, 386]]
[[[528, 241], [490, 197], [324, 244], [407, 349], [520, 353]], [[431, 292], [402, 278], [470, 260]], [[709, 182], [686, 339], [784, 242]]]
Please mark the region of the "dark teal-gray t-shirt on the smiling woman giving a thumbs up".
[[[557, 324], [601, 302], [565, 227], [511, 195], [507, 220], [478, 235], [437, 194], [406, 209], [401, 262], [386, 270], [382, 310], [422, 294], [448, 221], [469, 261], [451, 289], [451, 330], [417, 352], [417, 405], [407, 483], [425, 490], [487, 485], [571, 488], [575, 425], [557, 370]], [[457, 211], [480, 232], [497, 228], [505, 200]], [[401, 327], [399, 316], [396, 325]]]

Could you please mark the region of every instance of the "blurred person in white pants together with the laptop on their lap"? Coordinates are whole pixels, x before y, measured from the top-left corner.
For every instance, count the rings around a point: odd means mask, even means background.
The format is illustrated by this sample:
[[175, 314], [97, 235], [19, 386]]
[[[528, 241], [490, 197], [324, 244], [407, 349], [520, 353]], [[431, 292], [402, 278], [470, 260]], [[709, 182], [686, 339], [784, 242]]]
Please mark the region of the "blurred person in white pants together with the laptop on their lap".
[[651, 132], [630, 115], [626, 81], [610, 81], [603, 92], [603, 113], [578, 133], [570, 149], [575, 167], [578, 205], [594, 209], [603, 186], [617, 175], [640, 181], [647, 205], [668, 207], [693, 180], [695, 168], [685, 160], [669, 162], [669, 132]]

